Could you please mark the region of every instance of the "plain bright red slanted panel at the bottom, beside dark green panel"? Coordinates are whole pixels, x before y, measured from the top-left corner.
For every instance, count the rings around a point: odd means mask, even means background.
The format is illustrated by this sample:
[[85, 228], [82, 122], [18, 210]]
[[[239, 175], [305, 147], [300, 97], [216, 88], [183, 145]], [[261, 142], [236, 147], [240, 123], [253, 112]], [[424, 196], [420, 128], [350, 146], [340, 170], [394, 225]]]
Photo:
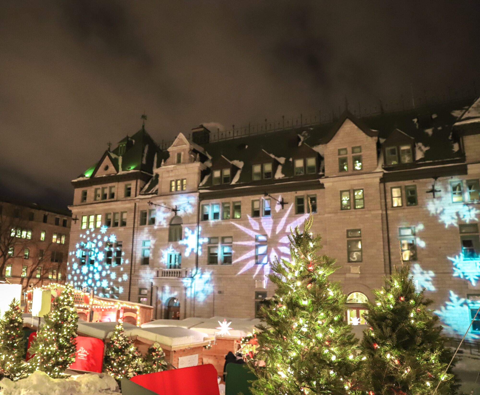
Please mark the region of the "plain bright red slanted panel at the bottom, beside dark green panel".
[[130, 380], [159, 395], [220, 395], [212, 364], [141, 374]]

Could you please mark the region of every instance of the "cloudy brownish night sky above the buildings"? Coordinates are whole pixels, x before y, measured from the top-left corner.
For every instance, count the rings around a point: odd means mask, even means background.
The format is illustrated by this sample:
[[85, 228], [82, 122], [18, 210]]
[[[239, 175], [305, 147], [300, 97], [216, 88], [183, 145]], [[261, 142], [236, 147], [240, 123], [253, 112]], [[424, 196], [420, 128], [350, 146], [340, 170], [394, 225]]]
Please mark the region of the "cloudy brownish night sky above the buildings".
[[0, 196], [66, 207], [108, 141], [480, 90], [474, 1], [2, 1]]

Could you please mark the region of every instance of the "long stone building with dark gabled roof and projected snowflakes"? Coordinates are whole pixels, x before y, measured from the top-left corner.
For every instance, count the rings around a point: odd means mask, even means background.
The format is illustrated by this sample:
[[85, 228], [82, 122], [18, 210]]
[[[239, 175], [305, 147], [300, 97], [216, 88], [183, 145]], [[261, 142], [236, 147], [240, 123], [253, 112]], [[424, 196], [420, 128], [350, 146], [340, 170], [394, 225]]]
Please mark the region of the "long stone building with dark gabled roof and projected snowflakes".
[[156, 318], [252, 317], [310, 202], [352, 324], [402, 257], [463, 335], [480, 303], [479, 134], [480, 100], [226, 139], [200, 126], [167, 150], [142, 128], [72, 181], [69, 279]]

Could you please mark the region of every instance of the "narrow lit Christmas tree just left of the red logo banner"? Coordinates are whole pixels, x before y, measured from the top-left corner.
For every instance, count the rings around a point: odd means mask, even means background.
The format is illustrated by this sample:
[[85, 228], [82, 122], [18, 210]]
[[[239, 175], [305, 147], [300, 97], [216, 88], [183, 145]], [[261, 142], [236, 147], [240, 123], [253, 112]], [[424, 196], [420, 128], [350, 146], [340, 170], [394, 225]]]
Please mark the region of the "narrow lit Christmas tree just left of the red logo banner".
[[28, 361], [30, 370], [46, 372], [50, 377], [62, 377], [75, 361], [78, 315], [73, 301], [73, 288], [67, 284], [52, 302], [45, 323], [37, 332]]

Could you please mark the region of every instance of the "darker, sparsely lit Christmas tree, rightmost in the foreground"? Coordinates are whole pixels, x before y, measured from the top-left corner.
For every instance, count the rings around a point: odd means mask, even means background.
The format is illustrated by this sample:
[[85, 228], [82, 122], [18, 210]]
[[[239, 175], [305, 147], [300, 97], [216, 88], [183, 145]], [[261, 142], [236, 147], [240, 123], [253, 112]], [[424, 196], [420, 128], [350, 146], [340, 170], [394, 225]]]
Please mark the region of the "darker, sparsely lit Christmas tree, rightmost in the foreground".
[[385, 286], [374, 290], [368, 302], [361, 346], [364, 383], [369, 394], [455, 394], [451, 372], [444, 374], [452, 352], [444, 347], [438, 317], [427, 308], [432, 303], [416, 292], [407, 265], [395, 268]]

